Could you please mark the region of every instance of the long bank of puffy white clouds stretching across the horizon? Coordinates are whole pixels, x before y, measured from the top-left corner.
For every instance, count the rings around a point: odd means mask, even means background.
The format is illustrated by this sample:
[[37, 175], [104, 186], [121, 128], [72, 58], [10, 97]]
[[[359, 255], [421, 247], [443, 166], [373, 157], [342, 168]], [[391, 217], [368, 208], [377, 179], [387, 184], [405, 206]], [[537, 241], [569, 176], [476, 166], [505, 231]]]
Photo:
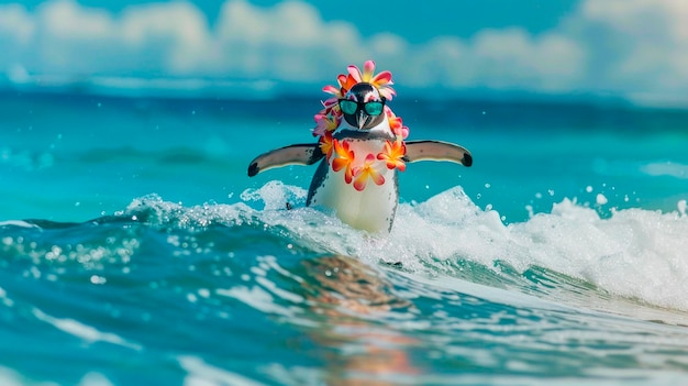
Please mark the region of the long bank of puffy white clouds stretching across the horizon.
[[[189, 2], [113, 14], [74, 0], [34, 11], [0, 5], [0, 69], [52, 77], [190, 77], [334, 81], [367, 58], [409, 87], [611, 92], [644, 101], [688, 102], [688, 2], [581, 0], [559, 25], [411, 44], [354, 24], [325, 21], [310, 4], [273, 8], [228, 0], [211, 26]], [[21, 69], [21, 70], [19, 70]], [[24, 77], [20, 77], [24, 78]]]

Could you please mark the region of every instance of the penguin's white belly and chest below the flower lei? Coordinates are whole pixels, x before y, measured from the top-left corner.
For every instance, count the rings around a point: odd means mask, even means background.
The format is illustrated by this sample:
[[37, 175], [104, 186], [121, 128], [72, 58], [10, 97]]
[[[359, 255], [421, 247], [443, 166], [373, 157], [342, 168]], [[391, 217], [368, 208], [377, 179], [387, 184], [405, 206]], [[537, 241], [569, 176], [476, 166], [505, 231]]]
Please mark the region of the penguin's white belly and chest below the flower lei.
[[[364, 165], [365, 161], [362, 158], [365, 158], [365, 155], [378, 154], [385, 142], [352, 140], [349, 143], [356, 154], [352, 165], [352, 168], [355, 169]], [[377, 185], [369, 179], [366, 181], [365, 188], [358, 190], [354, 184], [346, 181], [344, 169], [334, 172], [328, 165], [322, 183], [311, 187], [314, 191], [309, 205], [332, 209], [343, 222], [353, 228], [369, 232], [388, 231], [391, 228], [398, 203], [396, 170], [388, 169], [384, 162], [377, 159], [373, 167], [385, 178], [385, 181]]]

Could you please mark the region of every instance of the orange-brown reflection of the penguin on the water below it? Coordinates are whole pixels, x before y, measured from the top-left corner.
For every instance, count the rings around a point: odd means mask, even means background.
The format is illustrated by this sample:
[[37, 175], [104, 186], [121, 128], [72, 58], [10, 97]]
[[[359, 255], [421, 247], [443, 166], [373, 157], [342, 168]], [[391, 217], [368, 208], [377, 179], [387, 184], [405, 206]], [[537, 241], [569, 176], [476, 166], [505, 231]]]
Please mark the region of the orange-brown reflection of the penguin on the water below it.
[[392, 285], [356, 258], [326, 256], [304, 261], [302, 289], [321, 327], [311, 338], [325, 348], [329, 385], [397, 385], [418, 375], [409, 356], [418, 342], [390, 327], [393, 313], [413, 305], [396, 296]]

